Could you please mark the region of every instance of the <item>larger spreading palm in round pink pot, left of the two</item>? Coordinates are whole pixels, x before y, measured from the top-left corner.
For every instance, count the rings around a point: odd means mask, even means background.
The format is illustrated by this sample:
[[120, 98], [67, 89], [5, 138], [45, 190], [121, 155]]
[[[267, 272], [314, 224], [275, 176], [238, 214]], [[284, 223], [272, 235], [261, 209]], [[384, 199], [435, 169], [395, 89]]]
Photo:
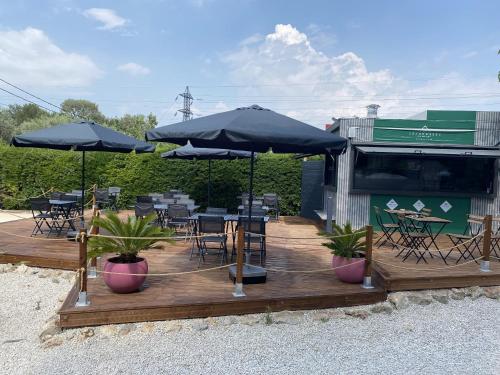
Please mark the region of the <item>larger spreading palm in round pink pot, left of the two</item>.
[[[157, 239], [164, 237], [166, 241], [172, 235], [171, 230], [163, 231], [153, 225], [155, 214], [145, 218], [129, 216], [122, 221], [115, 213], [105, 217], [94, 217], [92, 223], [99, 226], [112, 237], [91, 237], [89, 239], [89, 258], [115, 253], [114, 257], [104, 262], [103, 278], [106, 285], [115, 293], [131, 293], [139, 290], [148, 273], [148, 263], [139, 257], [140, 251], [162, 248]], [[133, 238], [120, 238], [133, 237]]]

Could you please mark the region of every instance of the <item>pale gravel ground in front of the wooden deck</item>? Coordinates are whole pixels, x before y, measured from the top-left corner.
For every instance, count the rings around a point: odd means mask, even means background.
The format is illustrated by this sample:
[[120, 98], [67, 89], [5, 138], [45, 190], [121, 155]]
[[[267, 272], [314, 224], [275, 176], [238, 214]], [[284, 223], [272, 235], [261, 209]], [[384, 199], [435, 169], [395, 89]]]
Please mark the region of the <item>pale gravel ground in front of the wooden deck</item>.
[[41, 343], [71, 281], [32, 272], [0, 273], [1, 374], [500, 373], [495, 299], [410, 305], [366, 319], [330, 309], [114, 325]]

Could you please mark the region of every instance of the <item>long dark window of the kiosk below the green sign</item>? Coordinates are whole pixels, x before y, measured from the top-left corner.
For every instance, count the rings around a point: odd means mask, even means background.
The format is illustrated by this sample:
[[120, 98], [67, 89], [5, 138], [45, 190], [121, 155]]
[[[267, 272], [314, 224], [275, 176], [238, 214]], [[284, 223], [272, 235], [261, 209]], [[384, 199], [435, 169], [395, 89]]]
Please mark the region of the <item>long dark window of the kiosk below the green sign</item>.
[[494, 193], [495, 159], [355, 153], [353, 190]]

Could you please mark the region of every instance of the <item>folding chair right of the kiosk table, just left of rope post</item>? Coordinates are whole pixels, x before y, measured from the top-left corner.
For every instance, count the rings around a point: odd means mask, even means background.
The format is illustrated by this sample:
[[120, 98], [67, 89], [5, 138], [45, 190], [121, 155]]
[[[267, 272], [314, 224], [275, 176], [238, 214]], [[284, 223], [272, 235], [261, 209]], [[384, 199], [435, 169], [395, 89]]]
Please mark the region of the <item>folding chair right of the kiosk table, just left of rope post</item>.
[[[446, 233], [450, 241], [453, 243], [453, 246], [456, 246], [457, 251], [460, 253], [457, 263], [461, 259], [466, 260], [468, 258], [472, 258], [477, 263], [473, 253], [476, 249], [481, 252], [479, 247], [481, 237], [478, 237], [475, 240], [472, 240], [472, 238], [476, 237], [482, 231], [483, 221], [484, 217], [482, 216], [467, 215], [467, 222], [463, 233]], [[463, 248], [463, 250], [461, 248]], [[448, 258], [452, 251], [453, 250], [450, 250], [448, 254], [446, 254], [445, 258]]]

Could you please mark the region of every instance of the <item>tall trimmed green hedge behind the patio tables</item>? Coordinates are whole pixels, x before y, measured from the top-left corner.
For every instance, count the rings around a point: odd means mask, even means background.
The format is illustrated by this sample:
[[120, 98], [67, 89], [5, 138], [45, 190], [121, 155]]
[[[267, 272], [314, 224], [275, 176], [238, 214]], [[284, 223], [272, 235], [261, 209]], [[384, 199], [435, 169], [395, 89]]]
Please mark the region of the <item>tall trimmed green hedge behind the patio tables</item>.
[[[164, 151], [161, 150], [161, 151]], [[208, 161], [164, 160], [154, 154], [86, 154], [87, 186], [120, 186], [120, 205], [136, 195], [178, 188], [206, 206]], [[26, 198], [43, 190], [80, 186], [81, 153], [0, 145], [0, 200], [5, 208], [28, 208]], [[234, 211], [237, 196], [248, 191], [248, 160], [213, 161], [211, 205]], [[275, 192], [284, 215], [300, 211], [301, 162], [292, 155], [260, 154], [255, 164], [255, 194]]]

